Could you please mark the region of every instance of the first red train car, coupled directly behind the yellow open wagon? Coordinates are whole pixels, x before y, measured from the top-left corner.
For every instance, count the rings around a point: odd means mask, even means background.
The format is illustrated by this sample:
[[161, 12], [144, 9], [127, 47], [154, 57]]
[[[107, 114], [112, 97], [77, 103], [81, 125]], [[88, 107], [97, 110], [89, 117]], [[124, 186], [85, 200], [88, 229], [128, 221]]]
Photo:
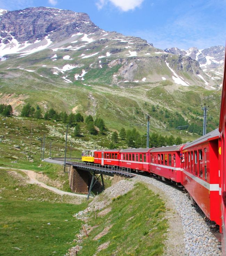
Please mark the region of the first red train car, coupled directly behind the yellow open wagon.
[[94, 163], [119, 166], [119, 157], [119, 149], [96, 150], [94, 152]]

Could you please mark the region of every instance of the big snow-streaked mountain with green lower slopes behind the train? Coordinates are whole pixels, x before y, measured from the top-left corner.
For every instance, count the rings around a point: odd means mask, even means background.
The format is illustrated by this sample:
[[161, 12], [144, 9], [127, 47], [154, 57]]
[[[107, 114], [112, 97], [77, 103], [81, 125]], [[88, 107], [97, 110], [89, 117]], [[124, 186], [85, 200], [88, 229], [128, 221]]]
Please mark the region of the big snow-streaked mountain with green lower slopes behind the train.
[[[151, 105], [176, 116], [187, 109], [185, 96], [193, 95], [197, 107], [220, 94], [221, 80], [203, 71], [197, 53], [160, 50], [141, 38], [104, 31], [87, 14], [70, 10], [0, 14], [0, 103], [13, 105], [16, 114], [30, 102], [43, 110], [102, 115], [117, 129], [135, 115], [143, 122]], [[166, 126], [163, 119], [153, 117], [153, 129]]]

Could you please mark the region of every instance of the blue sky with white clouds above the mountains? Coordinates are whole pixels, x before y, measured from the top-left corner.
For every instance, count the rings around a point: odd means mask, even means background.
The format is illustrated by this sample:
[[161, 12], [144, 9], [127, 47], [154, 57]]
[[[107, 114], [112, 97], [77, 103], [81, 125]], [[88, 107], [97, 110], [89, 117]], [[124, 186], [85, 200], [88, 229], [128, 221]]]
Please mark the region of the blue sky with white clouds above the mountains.
[[225, 0], [0, 0], [1, 9], [35, 6], [87, 13], [106, 31], [141, 37], [160, 49], [225, 46]]

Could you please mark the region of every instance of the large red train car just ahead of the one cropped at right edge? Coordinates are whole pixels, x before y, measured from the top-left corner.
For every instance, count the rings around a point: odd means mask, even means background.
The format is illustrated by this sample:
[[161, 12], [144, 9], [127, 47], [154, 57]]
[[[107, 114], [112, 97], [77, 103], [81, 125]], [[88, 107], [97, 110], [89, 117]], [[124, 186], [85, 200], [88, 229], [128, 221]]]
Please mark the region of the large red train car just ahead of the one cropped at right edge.
[[205, 216], [220, 226], [221, 232], [219, 135], [216, 129], [184, 146], [182, 184]]

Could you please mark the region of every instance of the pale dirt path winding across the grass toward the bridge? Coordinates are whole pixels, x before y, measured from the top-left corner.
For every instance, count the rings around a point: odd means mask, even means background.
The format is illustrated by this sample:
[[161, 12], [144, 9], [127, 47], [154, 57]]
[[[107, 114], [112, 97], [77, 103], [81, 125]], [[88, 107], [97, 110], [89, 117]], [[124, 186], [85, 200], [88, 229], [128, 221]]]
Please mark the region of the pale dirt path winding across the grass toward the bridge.
[[39, 185], [39, 186], [41, 186], [43, 188], [46, 188], [46, 189], [49, 189], [49, 190], [55, 192], [58, 195], [69, 195], [69, 196], [77, 196], [77, 197], [87, 197], [87, 195], [75, 194], [75, 193], [71, 193], [71, 192], [62, 191], [62, 190], [54, 188], [54, 187], [50, 187], [50, 186], [46, 185], [45, 183], [43, 183], [41, 181], [38, 181], [36, 179], [37, 173], [35, 173], [34, 171], [31, 171], [31, 170], [23, 170], [23, 169], [18, 169], [18, 168], [9, 168], [9, 167], [0, 167], [0, 169], [22, 171], [22, 172], [26, 173], [26, 175], [30, 179], [29, 181], [27, 181], [27, 183], [37, 184], [37, 185]]

